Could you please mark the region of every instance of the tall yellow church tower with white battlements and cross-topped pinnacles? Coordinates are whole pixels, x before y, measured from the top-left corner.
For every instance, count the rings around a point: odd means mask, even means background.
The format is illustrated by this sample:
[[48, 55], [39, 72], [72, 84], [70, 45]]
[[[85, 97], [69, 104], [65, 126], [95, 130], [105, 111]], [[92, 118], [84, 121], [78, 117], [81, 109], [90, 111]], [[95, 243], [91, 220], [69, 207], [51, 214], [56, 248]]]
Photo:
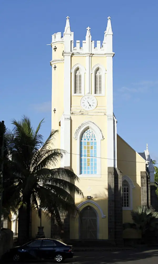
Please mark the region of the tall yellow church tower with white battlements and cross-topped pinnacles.
[[70, 220], [71, 239], [113, 236], [110, 188], [114, 188], [117, 167], [117, 132], [112, 37], [110, 17], [103, 41], [92, 40], [88, 26], [85, 40], [75, 43], [68, 16], [63, 35], [52, 35], [52, 129], [59, 130], [55, 147], [66, 150], [59, 166], [70, 168], [80, 178], [76, 185], [85, 199], [75, 196], [76, 205], [83, 215], [94, 215], [90, 231], [80, 220]]

